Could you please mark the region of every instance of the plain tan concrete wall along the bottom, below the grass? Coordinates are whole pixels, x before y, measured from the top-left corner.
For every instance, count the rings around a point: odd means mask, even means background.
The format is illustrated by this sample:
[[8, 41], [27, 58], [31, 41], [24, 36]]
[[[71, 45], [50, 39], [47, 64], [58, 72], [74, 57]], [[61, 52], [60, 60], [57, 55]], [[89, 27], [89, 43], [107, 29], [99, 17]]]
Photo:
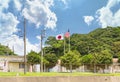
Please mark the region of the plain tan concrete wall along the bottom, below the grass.
[[0, 77], [0, 82], [120, 82], [117, 76]]

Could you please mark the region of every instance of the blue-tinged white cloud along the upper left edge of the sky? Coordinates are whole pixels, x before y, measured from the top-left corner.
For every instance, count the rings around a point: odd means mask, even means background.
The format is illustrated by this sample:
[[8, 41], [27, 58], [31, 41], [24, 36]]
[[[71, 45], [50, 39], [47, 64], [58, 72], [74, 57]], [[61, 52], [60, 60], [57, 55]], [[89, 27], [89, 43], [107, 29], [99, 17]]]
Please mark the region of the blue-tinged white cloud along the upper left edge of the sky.
[[17, 32], [17, 24], [19, 21], [12, 13], [3, 13], [4, 9], [8, 9], [10, 0], [0, 0], [0, 37], [9, 36]]

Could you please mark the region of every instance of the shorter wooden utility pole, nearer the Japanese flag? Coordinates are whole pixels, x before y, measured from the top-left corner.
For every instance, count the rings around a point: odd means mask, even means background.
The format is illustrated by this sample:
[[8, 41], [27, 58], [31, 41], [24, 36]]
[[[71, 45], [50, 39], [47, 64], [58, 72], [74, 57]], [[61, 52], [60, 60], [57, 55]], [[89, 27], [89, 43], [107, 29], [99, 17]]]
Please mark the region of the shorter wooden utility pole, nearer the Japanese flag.
[[45, 38], [45, 30], [41, 30], [41, 72], [43, 72], [43, 38]]

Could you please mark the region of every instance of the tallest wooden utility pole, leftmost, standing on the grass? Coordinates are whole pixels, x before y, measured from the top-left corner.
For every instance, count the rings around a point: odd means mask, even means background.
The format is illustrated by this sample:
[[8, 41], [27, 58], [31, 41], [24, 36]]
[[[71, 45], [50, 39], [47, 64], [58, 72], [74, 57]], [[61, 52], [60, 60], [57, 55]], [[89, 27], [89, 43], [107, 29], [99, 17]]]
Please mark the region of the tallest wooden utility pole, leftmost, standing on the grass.
[[24, 74], [26, 74], [26, 20], [24, 18]]

